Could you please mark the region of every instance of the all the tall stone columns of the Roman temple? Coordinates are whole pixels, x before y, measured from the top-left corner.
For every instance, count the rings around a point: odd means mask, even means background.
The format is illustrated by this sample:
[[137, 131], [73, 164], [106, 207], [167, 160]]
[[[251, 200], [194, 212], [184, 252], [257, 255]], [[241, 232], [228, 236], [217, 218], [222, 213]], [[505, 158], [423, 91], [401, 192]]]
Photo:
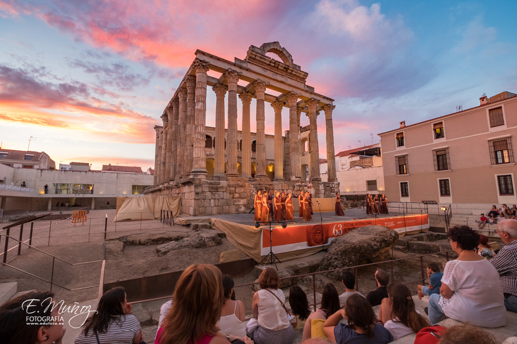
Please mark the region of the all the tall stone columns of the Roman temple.
[[[208, 64], [194, 61], [195, 76], [186, 77], [186, 87], [180, 88], [177, 97], [173, 98], [162, 115], [163, 129], [161, 135], [157, 131], [155, 183], [161, 184], [181, 178], [206, 175], [205, 158], [205, 126], [206, 126], [206, 87]], [[236, 177], [237, 171], [237, 83], [240, 73], [227, 70], [224, 73], [227, 85], [217, 84], [212, 89], [216, 94], [216, 138], [224, 137], [224, 97], [228, 92], [228, 128], [226, 145], [226, 176]], [[251, 178], [251, 135], [250, 135], [250, 104], [253, 96], [256, 98], [256, 150], [255, 177], [266, 175], [265, 147], [265, 91], [267, 84], [256, 80], [246, 91], [239, 95], [242, 102], [242, 177]], [[301, 178], [300, 170], [300, 113], [297, 106], [298, 95], [294, 92], [287, 94], [290, 117], [290, 179]], [[311, 140], [311, 179], [321, 180], [320, 163], [317, 141], [316, 112], [317, 100], [310, 99], [309, 107], [310, 140]], [[276, 101], [271, 104], [275, 111], [275, 179], [284, 180], [283, 144], [282, 144], [282, 108], [284, 103]], [[334, 143], [332, 131], [332, 110], [334, 106], [325, 105], [327, 127], [327, 161], [328, 180], [336, 180], [334, 163]], [[158, 127], [159, 128], [159, 127]], [[155, 127], [157, 129], [157, 127]], [[158, 129], [157, 129], [158, 130]], [[224, 139], [216, 139], [215, 144], [215, 175], [224, 175]]]

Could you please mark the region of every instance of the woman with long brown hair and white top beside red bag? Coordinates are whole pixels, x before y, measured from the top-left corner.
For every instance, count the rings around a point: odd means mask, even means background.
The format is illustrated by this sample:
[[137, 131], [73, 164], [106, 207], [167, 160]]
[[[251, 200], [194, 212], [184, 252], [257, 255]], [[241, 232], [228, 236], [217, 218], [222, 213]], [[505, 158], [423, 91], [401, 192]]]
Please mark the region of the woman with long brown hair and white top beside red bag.
[[388, 298], [379, 307], [379, 320], [393, 335], [394, 340], [429, 326], [427, 319], [415, 310], [409, 288], [397, 282], [390, 284], [387, 289]]

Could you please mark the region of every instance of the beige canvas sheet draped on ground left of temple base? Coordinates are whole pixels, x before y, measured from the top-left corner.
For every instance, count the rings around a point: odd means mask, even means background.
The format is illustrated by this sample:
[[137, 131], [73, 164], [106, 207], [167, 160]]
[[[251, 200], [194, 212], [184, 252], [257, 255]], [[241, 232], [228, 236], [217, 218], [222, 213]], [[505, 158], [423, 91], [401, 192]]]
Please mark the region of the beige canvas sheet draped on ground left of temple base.
[[179, 196], [126, 197], [123, 202], [120, 202], [123, 199], [120, 198], [117, 197], [118, 209], [113, 222], [155, 220], [160, 218], [161, 210], [172, 211], [173, 216], [177, 217], [181, 209]]

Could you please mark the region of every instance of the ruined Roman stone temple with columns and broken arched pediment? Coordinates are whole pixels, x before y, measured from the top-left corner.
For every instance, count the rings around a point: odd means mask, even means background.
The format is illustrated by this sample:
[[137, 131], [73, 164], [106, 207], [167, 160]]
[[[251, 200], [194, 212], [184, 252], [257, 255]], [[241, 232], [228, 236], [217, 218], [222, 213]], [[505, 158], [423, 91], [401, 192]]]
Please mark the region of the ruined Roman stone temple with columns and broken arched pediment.
[[[267, 53], [276, 54], [279, 60]], [[310, 123], [310, 163], [306, 165], [310, 167], [313, 195], [325, 197], [338, 189], [334, 165], [329, 166], [328, 181], [321, 181], [316, 123], [317, 116], [324, 113], [327, 157], [333, 158], [333, 100], [306, 84], [308, 73], [294, 64], [287, 50], [278, 42], [251, 45], [246, 58], [235, 58], [234, 62], [200, 50], [195, 55], [165, 107], [163, 125], [155, 126], [155, 187], [148, 193], [181, 195], [182, 212], [199, 215], [245, 212], [259, 189], [306, 189], [300, 143], [302, 115]], [[207, 112], [207, 91], [216, 96], [213, 112]], [[252, 98], [256, 99], [254, 109], [250, 106]], [[265, 134], [267, 103], [275, 113], [271, 136]], [[242, 114], [241, 132], [237, 131], [238, 109]], [[256, 121], [253, 139], [252, 114]], [[214, 137], [210, 137], [212, 146], [207, 144], [207, 136], [211, 136], [207, 135], [207, 116], [214, 116], [216, 123]], [[288, 116], [288, 128], [282, 128], [282, 116]], [[273, 154], [270, 161], [268, 152]], [[207, 153], [212, 154], [213, 161]]]

